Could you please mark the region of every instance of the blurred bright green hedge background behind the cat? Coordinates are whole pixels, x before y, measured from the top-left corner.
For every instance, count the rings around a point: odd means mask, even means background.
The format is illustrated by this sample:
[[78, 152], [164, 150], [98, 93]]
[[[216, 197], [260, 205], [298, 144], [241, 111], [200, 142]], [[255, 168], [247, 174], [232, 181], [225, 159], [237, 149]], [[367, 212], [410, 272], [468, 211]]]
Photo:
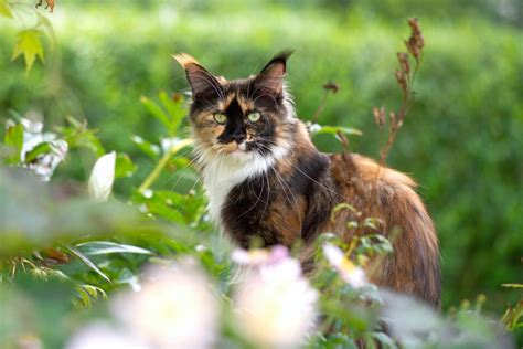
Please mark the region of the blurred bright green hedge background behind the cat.
[[[66, 115], [99, 129], [106, 150], [140, 166], [117, 183], [137, 186], [151, 163], [130, 141], [159, 142], [161, 126], [141, 95], [186, 89], [172, 53], [188, 52], [212, 72], [256, 73], [275, 53], [296, 50], [288, 81], [298, 114], [310, 119], [322, 84], [337, 82], [321, 124], [355, 127], [351, 150], [376, 158], [383, 137], [373, 106], [398, 107], [393, 71], [417, 17], [426, 47], [407, 116], [387, 162], [413, 176], [441, 243], [444, 307], [488, 297], [500, 315], [523, 282], [523, 49], [521, 3], [506, 1], [57, 1], [56, 46], [29, 76], [11, 62], [15, 30], [0, 19], [0, 117], [40, 115], [47, 127]], [[335, 140], [318, 138], [322, 150]], [[57, 179], [85, 180], [94, 156], [73, 152]], [[162, 184], [173, 187], [168, 177]]]

